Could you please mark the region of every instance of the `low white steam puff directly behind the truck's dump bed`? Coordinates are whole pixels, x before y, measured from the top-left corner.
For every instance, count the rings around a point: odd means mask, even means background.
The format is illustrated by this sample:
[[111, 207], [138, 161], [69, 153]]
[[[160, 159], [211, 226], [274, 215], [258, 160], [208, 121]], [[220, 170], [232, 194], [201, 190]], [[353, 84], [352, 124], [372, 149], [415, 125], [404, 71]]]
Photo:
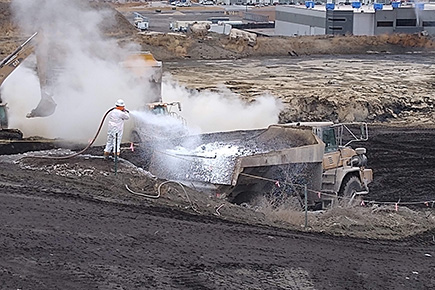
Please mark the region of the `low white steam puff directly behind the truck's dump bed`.
[[203, 133], [265, 128], [278, 123], [283, 109], [281, 101], [269, 94], [247, 103], [226, 87], [218, 92], [192, 91], [170, 77], [163, 82], [162, 94], [168, 102], [181, 101], [180, 114], [189, 127], [200, 128]]

